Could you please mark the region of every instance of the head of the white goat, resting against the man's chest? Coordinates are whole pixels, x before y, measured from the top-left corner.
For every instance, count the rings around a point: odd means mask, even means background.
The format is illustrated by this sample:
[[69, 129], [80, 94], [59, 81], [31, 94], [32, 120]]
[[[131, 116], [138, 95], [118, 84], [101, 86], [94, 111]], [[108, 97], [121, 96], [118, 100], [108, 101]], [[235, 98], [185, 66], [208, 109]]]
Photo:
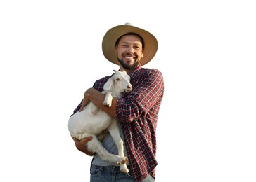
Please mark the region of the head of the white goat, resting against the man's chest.
[[130, 76], [126, 71], [116, 71], [115, 74], [105, 83], [104, 90], [112, 90], [116, 93], [131, 92], [132, 85], [130, 83]]

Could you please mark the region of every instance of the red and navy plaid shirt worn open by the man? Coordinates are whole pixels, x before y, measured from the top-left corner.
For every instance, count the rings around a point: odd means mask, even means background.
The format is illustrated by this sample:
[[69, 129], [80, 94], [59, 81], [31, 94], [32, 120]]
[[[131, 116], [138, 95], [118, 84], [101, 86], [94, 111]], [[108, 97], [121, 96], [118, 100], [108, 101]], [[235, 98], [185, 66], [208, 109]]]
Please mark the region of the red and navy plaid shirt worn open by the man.
[[[162, 73], [157, 69], [137, 67], [131, 76], [132, 92], [117, 99], [116, 118], [122, 123], [127, 157], [132, 165], [132, 174], [141, 181], [151, 174], [155, 178], [156, 127], [158, 112], [164, 94]], [[94, 88], [103, 91], [106, 76], [94, 83]], [[79, 111], [82, 102], [74, 113]]]

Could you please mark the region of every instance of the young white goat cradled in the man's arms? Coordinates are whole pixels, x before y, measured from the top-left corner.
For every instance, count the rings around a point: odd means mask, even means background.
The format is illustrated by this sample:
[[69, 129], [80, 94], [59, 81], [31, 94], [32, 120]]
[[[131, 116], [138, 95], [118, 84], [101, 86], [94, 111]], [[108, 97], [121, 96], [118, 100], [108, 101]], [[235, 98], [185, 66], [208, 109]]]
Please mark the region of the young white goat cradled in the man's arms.
[[[123, 92], [131, 92], [132, 85], [129, 80], [130, 77], [125, 71], [115, 71], [113, 76], [108, 79], [103, 87], [104, 91], [102, 93], [105, 94], [103, 104], [110, 107], [113, 97], [122, 97]], [[124, 144], [120, 137], [117, 120], [110, 117], [92, 102], [89, 102], [81, 112], [77, 112], [70, 116], [70, 119], [68, 120], [68, 130], [72, 137], [79, 140], [84, 137], [92, 136], [93, 139], [87, 143], [89, 151], [98, 153], [103, 160], [115, 162], [120, 165], [121, 172], [129, 172], [126, 165], [128, 158], [124, 156]], [[98, 141], [96, 136], [101, 134], [103, 130], [108, 130], [108, 132], [110, 132], [110, 135], [117, 146], [118, 155], [109, 153], [103, 148], [101, 142]]]

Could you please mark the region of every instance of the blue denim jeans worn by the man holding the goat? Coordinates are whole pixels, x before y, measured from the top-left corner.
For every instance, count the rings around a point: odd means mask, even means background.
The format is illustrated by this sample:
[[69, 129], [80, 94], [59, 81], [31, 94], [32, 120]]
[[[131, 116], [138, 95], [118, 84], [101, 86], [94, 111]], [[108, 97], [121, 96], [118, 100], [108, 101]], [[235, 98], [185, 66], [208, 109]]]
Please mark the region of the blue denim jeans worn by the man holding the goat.
[[[131, 171], [130, 167], [127, 166], [129, 171]], [[131, 176], [129, 173], [124, 174], [120, 172], [120, 167], [118, 166], [96, 166], [91, 165], [91, 180], [90, 182], [136, 182], [134, 177]], [[146, 179], [143, 179], [142, 182], [154, 182], [155, 179], [148, 175]]]

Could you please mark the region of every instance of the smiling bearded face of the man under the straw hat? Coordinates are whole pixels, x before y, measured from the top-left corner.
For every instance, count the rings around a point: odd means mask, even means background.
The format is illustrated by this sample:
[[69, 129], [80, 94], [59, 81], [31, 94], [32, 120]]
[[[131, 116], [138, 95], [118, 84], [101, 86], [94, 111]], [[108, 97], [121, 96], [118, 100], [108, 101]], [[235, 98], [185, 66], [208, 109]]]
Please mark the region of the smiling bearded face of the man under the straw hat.
[[135, 69], [143, 57], [141, 38], [136, 35], [125, 35], [115, 47], [118, 62], [124, 69]]

